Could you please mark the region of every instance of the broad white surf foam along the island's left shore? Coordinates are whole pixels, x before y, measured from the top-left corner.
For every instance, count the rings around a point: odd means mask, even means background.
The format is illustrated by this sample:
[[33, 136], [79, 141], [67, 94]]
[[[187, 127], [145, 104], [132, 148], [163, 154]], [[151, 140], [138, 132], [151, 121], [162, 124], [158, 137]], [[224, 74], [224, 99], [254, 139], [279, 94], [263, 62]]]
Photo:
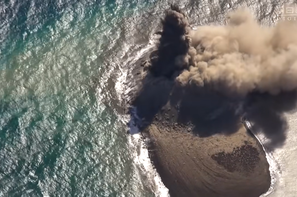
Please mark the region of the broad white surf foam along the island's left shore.
[[[144, 53], [154, 47], [154, 43], [155, 41], [152, 40], [149, 45], [141, 49], [133, 57], [129, 57], [122, 64], [123, 66], [120, 68], [118, 80], [115, 85], [120, 100], [129, 99], [126, 97], [127, 93], [131, 91], [130, 89], [127, 89], [131, 86], [125, 85], [127, 76], [130, 72], [129, 68], [125, 65], [128, 63], [129, 65], [132, 65], [135, 63]], [[169, 197], [168, 189], [162, 183], [157, 171], [153, 168], [149, 158], [148, 149], [146, 148], [145, 142], [142, 140], [142, 136], [137, 126], [141, 121], [137, 115], [137, 109], [132, 107], [131, 115], [121, 115], [121, 120], [124, 124], [127, 124], [127, 129], [129, 129], [129, 146], [134, 158], [134, 166], [139, 173], [139, 177], [146, 177], [144, 184], [151, 188], [156, 197]]]

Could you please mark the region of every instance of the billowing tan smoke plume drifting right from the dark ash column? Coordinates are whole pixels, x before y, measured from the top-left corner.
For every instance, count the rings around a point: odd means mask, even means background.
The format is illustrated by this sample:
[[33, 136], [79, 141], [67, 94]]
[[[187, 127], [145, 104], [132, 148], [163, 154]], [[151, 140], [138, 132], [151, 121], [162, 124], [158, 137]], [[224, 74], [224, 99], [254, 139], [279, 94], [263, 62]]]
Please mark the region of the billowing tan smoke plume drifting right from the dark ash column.
[[287, 17], [273, 27], [262, 27], [247, 8], [227, 18], [227, 25], [200, 26], [189, 33], [191, 47], [176, 64], [181, 59], [191, 63], [177, 81], [240, 96], [296, 89], [297, 20]]

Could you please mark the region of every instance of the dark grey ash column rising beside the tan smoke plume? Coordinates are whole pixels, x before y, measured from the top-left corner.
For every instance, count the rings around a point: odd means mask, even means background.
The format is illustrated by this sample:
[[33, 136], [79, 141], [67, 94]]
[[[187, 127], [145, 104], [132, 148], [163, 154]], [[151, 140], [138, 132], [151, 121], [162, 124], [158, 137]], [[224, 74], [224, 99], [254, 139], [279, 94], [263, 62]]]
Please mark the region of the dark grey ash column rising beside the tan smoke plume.
[[158, 50], [151, 56], [151, 73], [171, 77], [188, 65], [176, 66], [176, 58], [187, 55], [190, 46], [189, 22], [177, 6], [171, 6], [162, 20], [163, 30]]

